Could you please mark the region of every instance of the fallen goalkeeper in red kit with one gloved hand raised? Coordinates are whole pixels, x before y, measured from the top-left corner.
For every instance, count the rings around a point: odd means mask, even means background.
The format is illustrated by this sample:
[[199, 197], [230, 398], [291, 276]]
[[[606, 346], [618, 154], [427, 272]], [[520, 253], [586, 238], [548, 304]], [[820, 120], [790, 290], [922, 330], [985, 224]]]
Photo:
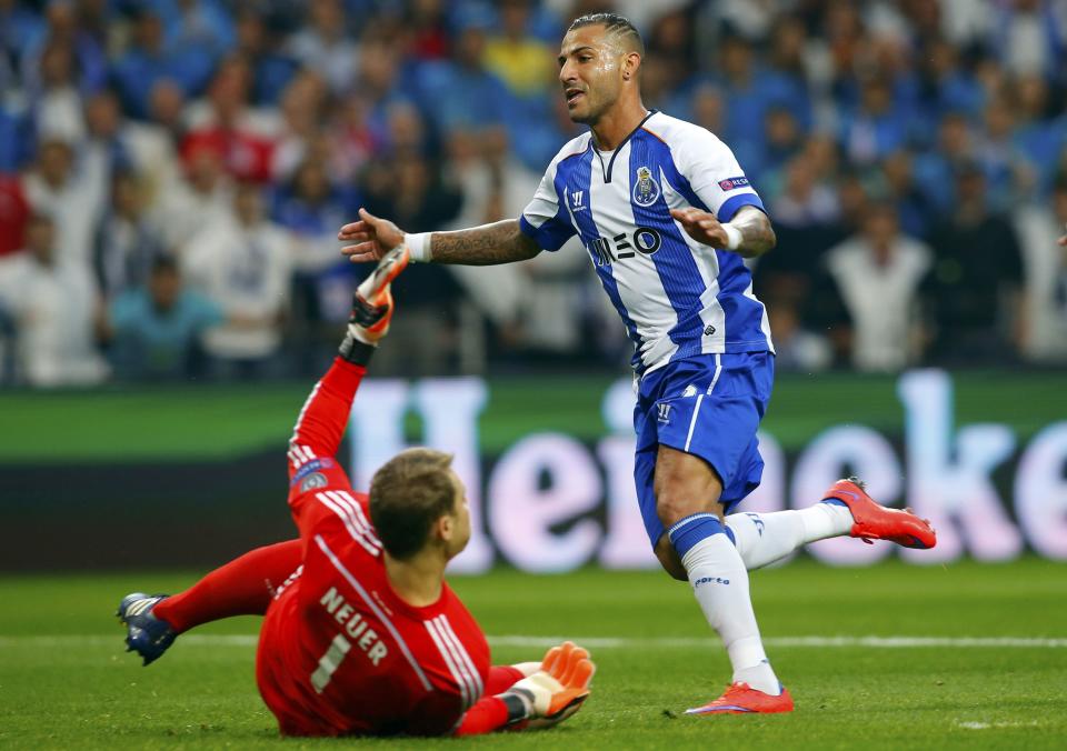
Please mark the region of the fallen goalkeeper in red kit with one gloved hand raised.
[[490, 667], [481, 629], [445, 581], [470, 538], [451, 455], [401, 452], [375, 474], [369, 497], [333, 459], [389, 326], [389, 282], [406, 263], [400, 246], [360, 286], [340, 352], [297, 419], [289, 507], [300, 539], [247, 553], [178, 595], [134, 593], [119, 605], [144, 664], [193, 625], [265, 614], [256, 678], [287, 735], [546, 727], [589, 694], [594, 665], [570, 642], [540, 663]]

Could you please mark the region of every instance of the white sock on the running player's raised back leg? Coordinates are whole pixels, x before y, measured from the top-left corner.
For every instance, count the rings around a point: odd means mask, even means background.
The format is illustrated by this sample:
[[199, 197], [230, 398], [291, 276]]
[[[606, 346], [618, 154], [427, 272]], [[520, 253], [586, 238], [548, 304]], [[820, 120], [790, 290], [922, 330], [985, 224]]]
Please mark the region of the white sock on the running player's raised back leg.
[[852, 514], [847, 507], [816, 503], [798, 511], [735, 513], [726, 518], [737, 552], [749, 569], [759, 569], [816, 540], [847, 534]]

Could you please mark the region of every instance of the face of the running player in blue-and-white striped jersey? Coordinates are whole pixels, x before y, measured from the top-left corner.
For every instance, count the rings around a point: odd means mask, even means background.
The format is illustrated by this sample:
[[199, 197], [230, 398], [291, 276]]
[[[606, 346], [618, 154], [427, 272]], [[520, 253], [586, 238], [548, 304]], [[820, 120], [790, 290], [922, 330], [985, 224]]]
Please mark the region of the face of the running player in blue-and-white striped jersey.
[[595, 124], [622, 91], [626, 51], [602, 26], [567, 32], [559, 50], [559, 83], [574, 122]]

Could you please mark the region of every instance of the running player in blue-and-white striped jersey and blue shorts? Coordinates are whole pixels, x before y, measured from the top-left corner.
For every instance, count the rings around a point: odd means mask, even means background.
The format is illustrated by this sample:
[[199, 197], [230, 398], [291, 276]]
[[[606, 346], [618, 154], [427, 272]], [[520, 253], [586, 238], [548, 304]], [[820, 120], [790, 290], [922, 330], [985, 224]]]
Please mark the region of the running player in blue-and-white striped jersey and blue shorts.
[[406, 238], [415, 261], [521, 261], [581, 239], [634, 342], [635, 479], [649, 541], [688, 580], [734, 668], [719, 699], [689, 710], [786, 712], [749, 601], [748, 568], [838, 534], [929, 548], [934, 530], [884, 509], [851, 481], [801, 511], [734, 514], [760, 481], [756, 431], [770, 399], [774, 346], [742, 262], [775, 232], [734, 153], [707, 130], [641, 103], [645, 48], [615, 13], [575, 20], [559, 53], [571, 120], [589, 131], [548, 166], [517, 220], [405, 236], [360, 210], [338, 238], [353, 261]]

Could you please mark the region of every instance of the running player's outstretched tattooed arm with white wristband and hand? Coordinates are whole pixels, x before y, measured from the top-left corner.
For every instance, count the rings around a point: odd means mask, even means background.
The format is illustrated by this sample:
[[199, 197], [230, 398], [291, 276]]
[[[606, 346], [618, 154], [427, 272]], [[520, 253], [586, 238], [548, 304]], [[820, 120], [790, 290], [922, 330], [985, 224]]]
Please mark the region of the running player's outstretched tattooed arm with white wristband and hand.
[[519, 229], [517, 219], [506, 219], [453, 232], [426, 232], [406, 236], [388, 219], [359, 210], [359, 221], [345, 224], [337, 237], [353, 244], [341, 252], [353, 262], [377, 261], [391, 248], [407, 242], [412, 261], [495, 266], [525, 261], [540, 252], [537, 243]]

